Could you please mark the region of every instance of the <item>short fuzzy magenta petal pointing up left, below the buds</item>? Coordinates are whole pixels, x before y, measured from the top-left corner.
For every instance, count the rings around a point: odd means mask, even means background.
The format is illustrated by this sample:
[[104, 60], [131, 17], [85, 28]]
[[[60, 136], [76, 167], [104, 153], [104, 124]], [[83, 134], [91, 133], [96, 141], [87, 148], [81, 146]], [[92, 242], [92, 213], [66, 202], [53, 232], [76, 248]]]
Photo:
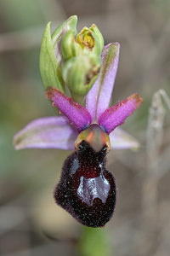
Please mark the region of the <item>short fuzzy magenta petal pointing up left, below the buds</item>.
[[53, 106], [59, 108], [59, 111], [70, 120], [77, 131], [85, 130], [91, 124], [92, 118], [88, 110], [77, 102], [65, 96], [60, 90], [49, 87], [46, 96], [53, 102]]

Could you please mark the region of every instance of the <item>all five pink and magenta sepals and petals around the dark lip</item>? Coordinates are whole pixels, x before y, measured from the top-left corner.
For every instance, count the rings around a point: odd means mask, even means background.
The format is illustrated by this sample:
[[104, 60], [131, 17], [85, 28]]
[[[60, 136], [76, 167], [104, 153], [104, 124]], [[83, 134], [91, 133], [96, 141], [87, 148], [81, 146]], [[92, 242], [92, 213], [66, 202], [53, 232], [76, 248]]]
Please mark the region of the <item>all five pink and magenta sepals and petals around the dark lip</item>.
[[102, 67], [99, 78], [86, 96], [85, 108], [73, 102], [56, 88], [49, 88], [46, 96], [59, 108], [62, 116], [32, 121], [14, 136], [14, 148], [60, 148], [74, 149], [74, 142], [80, 131], [97, 123], [109, 134], [111, 148], [138, 148], [136, 139], [118, 125], [127, 119], [142, 103], [138, 94], [109, 108], [116, 79], [120, 44], [107, 44], [102, 52]]

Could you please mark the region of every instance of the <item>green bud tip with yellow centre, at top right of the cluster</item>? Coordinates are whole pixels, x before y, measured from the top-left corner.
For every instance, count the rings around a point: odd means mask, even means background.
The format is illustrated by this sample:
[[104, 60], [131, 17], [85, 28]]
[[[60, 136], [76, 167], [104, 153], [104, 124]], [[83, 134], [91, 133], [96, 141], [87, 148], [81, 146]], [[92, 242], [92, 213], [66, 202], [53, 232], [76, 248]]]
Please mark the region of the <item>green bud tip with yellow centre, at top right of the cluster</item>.
[[90, 28], [86, 26], [82, 28], [82, 31], [77, 35], [77, 42], [86, 53], [92, 52], [101, 55], [104, 48], [104, 38], [99, 32], [99, 28], [94, 24]]

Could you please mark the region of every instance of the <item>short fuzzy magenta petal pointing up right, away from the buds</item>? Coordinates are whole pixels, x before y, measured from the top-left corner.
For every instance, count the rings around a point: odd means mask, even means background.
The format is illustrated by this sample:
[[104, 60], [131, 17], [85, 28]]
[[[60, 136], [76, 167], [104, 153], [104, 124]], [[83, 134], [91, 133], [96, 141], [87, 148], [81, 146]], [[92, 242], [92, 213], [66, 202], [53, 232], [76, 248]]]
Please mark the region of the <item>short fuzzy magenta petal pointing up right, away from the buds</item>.
[[133, 113], [143, 100], [139, 94], [133, 94], [127, 97], [125, 101], [119, 102], [115, 106], [108, 108], [99, 117], [99, 125], [102, 129], [110, 134], [117, 126], [122, 125], [129, 115]]

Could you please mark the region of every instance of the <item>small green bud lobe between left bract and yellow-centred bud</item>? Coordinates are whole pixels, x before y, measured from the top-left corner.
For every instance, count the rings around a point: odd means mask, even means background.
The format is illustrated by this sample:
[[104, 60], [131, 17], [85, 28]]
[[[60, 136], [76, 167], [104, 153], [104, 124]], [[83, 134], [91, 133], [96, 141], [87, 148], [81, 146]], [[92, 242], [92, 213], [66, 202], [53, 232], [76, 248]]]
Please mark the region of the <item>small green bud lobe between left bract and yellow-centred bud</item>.
[[80, 44], [77, 44], [76, 38], [76, 33], [70, 30], [65, 33], [61, 40], [61, 52], [65, 61], [75, 57], [82, 51], [82, 47]]

